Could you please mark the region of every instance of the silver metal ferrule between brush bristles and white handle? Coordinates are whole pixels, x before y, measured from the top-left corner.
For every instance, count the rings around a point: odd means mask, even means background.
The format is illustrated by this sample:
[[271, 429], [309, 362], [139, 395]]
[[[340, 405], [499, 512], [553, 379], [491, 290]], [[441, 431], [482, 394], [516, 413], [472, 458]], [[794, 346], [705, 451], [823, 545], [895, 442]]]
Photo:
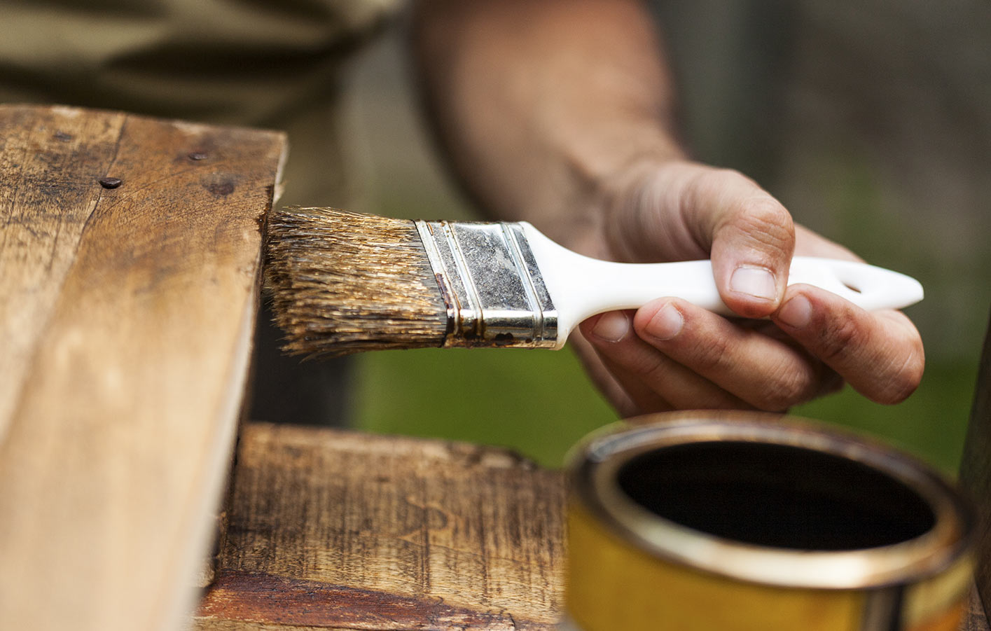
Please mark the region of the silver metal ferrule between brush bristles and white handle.
[[414, 223], [447, 305], [445, 347], [556, 346], [557, 311], [521, 224]]

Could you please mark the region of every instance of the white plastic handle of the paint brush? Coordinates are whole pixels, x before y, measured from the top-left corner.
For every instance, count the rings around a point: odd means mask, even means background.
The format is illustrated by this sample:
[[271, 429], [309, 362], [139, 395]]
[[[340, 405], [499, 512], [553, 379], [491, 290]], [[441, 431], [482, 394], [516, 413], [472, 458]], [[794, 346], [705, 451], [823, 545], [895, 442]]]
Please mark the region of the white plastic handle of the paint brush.
[[[636, 309], [655, 298], [684, 298], [722, 315], [735, 315], [719, 298], [711, 261], [612, 263], [560, 246], [526, 222], [533, 256], [558, 312], [558, 344], [580, 322], [605, 311]], [[923, 299], [911, 276], [866, 263], [795, 257], [788, 284], [811, 284], [868, 310], [901, 309]]]

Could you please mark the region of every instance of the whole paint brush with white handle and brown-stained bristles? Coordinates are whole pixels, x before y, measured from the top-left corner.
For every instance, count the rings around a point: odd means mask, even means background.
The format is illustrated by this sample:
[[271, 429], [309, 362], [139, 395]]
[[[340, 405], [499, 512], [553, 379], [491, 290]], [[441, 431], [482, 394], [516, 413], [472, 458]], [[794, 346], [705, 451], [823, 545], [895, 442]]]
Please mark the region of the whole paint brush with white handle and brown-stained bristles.
[[[580, 322], [677, 296], [733, 315], [712, 263], [612, 263], [572, 252], [526, 222], [428, 222], [332, 208], [282, 208], [269, 222], [267, 281], [284, 350], [339, 356], [381, 349], [560, 349]], [[904, 274], [796, 257], [809, 283], [866, 309], [923, 297]]]

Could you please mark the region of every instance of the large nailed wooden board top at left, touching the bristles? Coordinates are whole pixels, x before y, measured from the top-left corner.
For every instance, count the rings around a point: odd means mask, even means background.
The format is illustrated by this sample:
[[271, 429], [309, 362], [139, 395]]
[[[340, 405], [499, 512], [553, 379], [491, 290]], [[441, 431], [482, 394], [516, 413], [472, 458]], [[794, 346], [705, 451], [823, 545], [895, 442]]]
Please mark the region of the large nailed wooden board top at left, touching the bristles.
[[0, 138], [17, 340], [0, 354], [0, 620], [175, 628], [228, 468], [284, 139], [28, 106], [0, 107]]

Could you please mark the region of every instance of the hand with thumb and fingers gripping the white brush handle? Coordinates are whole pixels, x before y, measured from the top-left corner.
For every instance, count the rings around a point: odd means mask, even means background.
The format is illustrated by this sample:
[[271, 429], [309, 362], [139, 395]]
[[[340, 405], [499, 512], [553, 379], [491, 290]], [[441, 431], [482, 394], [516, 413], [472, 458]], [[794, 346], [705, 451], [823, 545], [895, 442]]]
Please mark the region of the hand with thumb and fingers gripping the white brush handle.
[[671, 409], [784, 411], [843, 381], [882, 403], [918, 386], [924, 354], [898, 311], [865, 311], [811, 285], [786, 288], [793, 254], [857, 260], [801, 226], [738, 172], [690, 161], [642, 167], [607, 194], [581, 248], [627, 262], [711, 258], [717, 316], [676, 298], [584, 322], [575, 346], [623, 416]]

